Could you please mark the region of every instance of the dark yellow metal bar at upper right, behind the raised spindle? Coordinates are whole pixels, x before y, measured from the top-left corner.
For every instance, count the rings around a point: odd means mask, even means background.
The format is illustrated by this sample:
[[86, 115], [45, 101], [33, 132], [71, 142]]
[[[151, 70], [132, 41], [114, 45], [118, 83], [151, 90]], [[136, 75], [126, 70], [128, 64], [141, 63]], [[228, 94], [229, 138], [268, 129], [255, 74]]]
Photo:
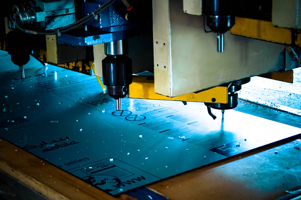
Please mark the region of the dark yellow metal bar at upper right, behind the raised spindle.
[[230, 33], [273, 43], [301, 47], [300, 30], [274, 27], [272, 22], [262, 20], [235, 17], [235, 25], [230, 30]]

